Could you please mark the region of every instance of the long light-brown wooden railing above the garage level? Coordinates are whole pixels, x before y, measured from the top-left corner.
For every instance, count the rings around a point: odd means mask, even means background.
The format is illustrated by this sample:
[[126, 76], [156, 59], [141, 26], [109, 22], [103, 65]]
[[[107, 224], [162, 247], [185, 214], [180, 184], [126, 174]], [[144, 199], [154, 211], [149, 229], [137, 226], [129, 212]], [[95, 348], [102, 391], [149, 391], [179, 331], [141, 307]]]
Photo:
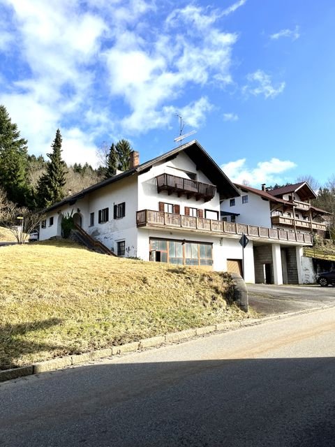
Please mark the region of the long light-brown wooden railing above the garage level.
[[202, 233], [214, 233], [217, 235], [242, 235], [262, 239], [274, 239], [290, 242], [302, 242], [312, 244], [311, 233], [295, 233], [295, 231], [277, 230], [261, 226], [246, 225], [203, 219], [202, 217], [184, 216], [162, 211], [141, 210], [136, 213], [137, 227], [150, 226], [158, 228], [184, 228]]

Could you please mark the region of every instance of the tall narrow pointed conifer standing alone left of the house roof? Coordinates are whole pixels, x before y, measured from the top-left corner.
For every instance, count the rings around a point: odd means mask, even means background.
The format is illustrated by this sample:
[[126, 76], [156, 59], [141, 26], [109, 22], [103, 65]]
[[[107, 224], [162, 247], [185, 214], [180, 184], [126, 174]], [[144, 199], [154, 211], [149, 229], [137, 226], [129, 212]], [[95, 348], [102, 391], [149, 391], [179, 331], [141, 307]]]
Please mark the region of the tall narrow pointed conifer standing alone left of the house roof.
[[61, 132], [57, 129], [52, 142], [52, 152], [47, 154], [50, 161], [47, 163], [47, 172], [40, 177], [37, 185], [38, 205], [50, 207], [65, 196], [66, 163], [61, 159]]

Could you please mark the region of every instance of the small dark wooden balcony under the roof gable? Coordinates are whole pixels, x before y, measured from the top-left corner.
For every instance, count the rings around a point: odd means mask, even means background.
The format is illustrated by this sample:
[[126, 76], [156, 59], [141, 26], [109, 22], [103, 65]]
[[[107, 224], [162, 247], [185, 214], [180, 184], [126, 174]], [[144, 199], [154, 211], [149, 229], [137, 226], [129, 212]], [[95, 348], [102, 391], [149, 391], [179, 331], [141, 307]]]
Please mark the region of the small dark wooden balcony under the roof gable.
[[168, 194], [177, 193], [178, 197], [186, 195], [187, 198], [194, 197], [196, 200], [203, 199], [208, 202], [214, 198], [216, 193], [216, 186], [214, 184], [207, 184], [195, 182], [195, 180], [184, 179], [170, 174], [161, 174], [156, 177], [157, 191], [168, 191]]

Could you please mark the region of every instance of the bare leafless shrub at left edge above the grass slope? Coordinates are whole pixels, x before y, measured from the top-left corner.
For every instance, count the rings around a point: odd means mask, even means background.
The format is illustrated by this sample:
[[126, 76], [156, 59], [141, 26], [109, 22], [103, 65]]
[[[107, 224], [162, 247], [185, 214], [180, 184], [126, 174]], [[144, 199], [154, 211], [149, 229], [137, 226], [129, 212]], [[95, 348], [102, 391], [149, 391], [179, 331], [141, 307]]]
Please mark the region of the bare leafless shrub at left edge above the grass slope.
[[29, 211], [26, 207], [18, 207], [7, 200], [6, 193], [0, 189], [0, 225], [8, 228], [18, 244], [24, 244], [29, 233], [35, 230], [44, 215]]

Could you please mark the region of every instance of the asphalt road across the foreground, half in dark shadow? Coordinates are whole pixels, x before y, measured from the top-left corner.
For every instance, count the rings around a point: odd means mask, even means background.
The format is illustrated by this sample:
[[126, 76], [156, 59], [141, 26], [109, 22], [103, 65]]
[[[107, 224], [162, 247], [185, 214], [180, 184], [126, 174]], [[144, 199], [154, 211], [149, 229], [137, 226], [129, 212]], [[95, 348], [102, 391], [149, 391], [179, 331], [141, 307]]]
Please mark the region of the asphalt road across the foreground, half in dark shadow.
[[0, 384], [0, 446], [329, 447], [335, 308]]

